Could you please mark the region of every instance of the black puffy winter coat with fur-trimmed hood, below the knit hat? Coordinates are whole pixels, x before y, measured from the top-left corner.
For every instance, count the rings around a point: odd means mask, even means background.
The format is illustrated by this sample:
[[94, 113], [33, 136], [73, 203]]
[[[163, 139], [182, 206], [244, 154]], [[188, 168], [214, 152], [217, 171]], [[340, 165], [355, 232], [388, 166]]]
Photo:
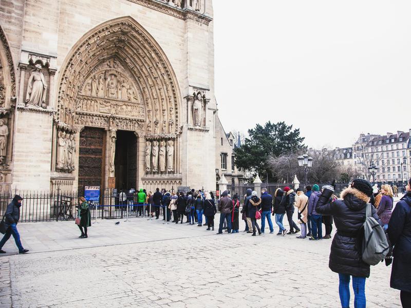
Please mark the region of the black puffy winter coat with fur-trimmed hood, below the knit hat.
[[[337, 234], [331, 244], [328, 266], [335, 273], [369, 277], [369, 265], [363, 262], [360, 253], [362, 239], [360, 229], [365, 220], [365, 207], [369, 197], [351, 187], [341, 192], [343, 200], [330, 202], [331, 196], [332, 191], [324, 189], [315, 206], [316, 213], [333, 215], [337, 227]], [[382, 225], [374, 208], [372, 208], [372, 217]]]

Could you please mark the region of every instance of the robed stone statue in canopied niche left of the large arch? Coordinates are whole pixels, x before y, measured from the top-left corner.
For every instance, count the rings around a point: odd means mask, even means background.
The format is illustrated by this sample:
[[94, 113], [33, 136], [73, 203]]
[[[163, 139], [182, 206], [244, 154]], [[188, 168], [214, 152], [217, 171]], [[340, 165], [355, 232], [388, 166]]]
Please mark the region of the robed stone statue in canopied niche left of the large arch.
[[46, 108], [46, 81], [42, 72], [41, 64], [36, 64], [35, 69], [31, 71], [27, 83], [26, 103], [30, 106], [39, 106]]

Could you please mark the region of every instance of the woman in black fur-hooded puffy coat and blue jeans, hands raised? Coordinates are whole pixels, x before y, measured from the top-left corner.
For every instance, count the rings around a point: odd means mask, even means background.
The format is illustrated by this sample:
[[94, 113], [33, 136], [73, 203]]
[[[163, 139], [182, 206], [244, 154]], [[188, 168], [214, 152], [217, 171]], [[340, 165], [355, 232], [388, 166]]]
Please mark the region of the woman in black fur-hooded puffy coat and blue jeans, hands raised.
[[[332, 215], [337, 227], [337, 234], [331, 244], [329, 268], [339, 274], [341, 306], [347, 308], [350, 305], [349, 283], [352, 277], [354, 307], [365, 308], [365, 279], [369, 277], [370, 266], [361, 258], [358, 239], [361, 238], [366, 207], [372, 196], [372, 186], [363, 179], [353, 180], [349, 187], [341, 192], [342, 200], [329, 202], [333, 191], [332, 186], [324, 186], [315, 205], [315, 212], [319, 215]], [[371, 215], [382, 225], [373, 207]], [[409, 283], [409, 278], [407, 282]]]

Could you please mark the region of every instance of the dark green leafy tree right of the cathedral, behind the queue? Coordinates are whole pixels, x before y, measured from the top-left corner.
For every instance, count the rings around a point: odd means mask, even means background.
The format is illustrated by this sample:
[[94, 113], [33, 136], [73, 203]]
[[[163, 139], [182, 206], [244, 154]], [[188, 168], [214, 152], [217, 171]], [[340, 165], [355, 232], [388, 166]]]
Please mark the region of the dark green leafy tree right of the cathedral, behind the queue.
[[293, 129], [285, 122], [257, 124], [248, 134], [241, 147], [235, 150], [235, 165], [241, 171], [258, 172], [263, 180], [267, 177], [269, 181], [277, 180], [268, 164], [269, 158], [306, 148], [300, 129]]

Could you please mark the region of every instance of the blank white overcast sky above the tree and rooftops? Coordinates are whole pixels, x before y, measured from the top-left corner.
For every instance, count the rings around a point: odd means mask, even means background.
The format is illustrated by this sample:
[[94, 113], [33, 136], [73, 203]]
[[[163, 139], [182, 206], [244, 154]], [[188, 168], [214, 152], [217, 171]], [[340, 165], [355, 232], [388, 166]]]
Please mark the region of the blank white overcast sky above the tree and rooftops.
[[321, 148], [411, 128], [411, 1], [213, 6], [215, 95], [226, 132], [285, 121]]

